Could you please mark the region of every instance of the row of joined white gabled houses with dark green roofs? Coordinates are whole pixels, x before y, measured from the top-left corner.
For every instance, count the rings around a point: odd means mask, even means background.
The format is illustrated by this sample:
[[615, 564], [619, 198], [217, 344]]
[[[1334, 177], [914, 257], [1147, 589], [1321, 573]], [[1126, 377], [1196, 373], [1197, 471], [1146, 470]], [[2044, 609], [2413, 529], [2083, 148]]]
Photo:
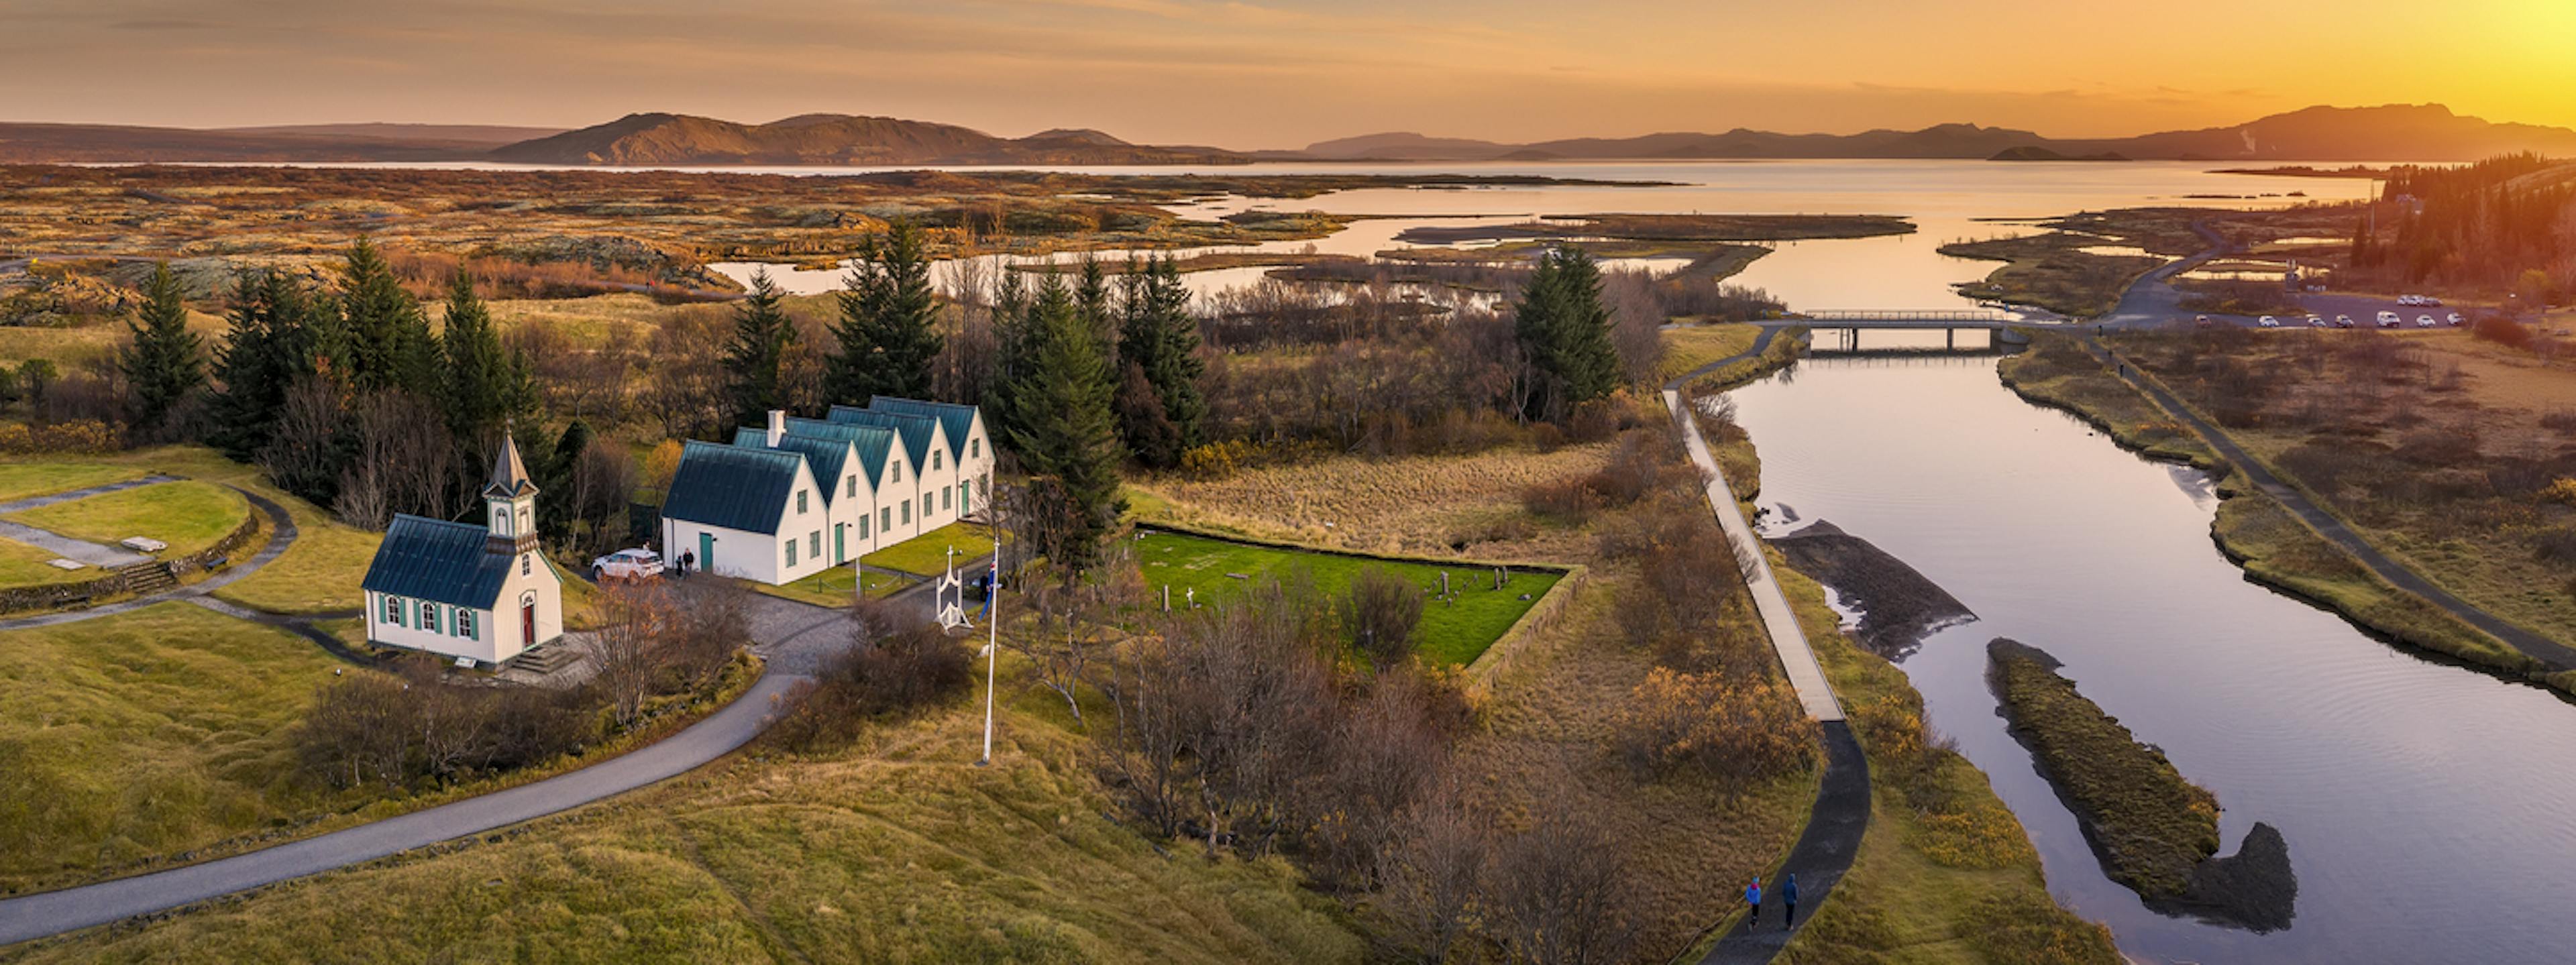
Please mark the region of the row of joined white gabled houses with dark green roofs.
[[791, 584], [981, 515], [992, 463], [976, 407], [876, 396], [824, 419], [770, 412], [729, 445], [680, 450], [662, 497], [662, 558]]

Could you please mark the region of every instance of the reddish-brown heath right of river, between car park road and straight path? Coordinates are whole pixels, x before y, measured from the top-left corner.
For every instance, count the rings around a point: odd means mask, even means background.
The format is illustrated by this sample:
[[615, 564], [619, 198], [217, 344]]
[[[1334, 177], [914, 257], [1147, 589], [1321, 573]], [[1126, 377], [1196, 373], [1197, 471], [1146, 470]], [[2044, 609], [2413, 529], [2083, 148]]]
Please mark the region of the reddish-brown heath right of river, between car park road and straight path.
[[[2576, 363], [2455, 329], [2280, 335], [2239, 345], [2123, 335], [2117, 345], [2380, 553], [2504, 620], [2576, 643], [2576, 507], [2537, 492], [2571, 476], [2566, 432], [2543, 419], [2576, 412]], [[2197, 342], [2208, 342], [2197, 363], [2174, 355]], [[2372, 345], [2393, 350], [2385, 368], [2357, 360]], [[2208, 376], [2226, 365], [2213, 355], [2275, 373], [2257, 383], [2251, 409], [2221, 412], [2246, 401]]]

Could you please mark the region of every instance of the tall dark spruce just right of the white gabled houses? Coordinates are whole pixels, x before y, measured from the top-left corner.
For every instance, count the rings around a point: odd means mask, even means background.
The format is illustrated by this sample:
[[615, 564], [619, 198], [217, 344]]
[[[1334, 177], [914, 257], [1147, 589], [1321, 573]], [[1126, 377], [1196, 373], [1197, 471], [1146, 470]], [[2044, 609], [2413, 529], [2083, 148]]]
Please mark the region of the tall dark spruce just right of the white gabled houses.
[[1100, 540], [1126, 510], [1118, 430], [1095, 332], [1064, 283], [1048, 278], [1028, 309], [1033, 368], [1012, 389], [1012, 450], [1028, 471], [1030, 543], [1066, 571], [1100, 561]]

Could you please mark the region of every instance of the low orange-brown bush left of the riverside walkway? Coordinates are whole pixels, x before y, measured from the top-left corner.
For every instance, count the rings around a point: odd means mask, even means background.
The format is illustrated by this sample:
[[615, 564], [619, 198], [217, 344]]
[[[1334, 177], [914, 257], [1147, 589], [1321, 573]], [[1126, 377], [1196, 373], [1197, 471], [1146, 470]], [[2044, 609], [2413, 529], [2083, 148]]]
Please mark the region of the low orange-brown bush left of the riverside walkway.
[[1656, 666], [1618, 715], [1620, 751], [1649, 775], [1749, 785], [1816, 764], [1816, 721], [1785, 682]]

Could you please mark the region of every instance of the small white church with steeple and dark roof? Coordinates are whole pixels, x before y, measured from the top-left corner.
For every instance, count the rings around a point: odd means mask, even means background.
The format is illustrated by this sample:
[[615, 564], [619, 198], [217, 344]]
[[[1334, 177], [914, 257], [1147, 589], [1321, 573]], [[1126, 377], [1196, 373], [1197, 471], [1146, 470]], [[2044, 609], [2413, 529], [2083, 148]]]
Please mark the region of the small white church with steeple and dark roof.
[[366, 569], [366, 638], [500, 664], [564, 636], [564, 582], [536, 548], [536, 484], [502, 437], [484, 525], [397, 515]]

